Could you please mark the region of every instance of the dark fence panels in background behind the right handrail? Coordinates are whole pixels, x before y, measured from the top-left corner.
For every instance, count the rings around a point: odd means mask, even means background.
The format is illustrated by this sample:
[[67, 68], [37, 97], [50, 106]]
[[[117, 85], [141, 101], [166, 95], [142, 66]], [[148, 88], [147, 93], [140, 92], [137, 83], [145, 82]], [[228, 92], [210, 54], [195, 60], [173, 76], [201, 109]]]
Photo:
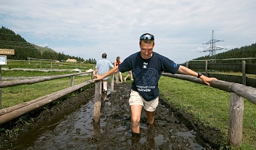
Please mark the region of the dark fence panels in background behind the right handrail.
[[[205, 63], [186, 63], [186, 67], [194, 71], [204, 71], [207, 77], [215, 77], [218, 80], [227, 81], [230, 83], [240, 83], [245, 86], [251, 86], [256, 88], [256, 79], [247, 77], [246, 74], [256, 74], [256, 64], [246, 64], [245, 61], [238, 64], [231, 63], [209, 63], [208, 60]], [[242, 76], [227, 75], [227, 74], [214, 74], [214, 71], [232, 71], [242, 73]], [[211, 72], [209, 72], [211, 71]]]

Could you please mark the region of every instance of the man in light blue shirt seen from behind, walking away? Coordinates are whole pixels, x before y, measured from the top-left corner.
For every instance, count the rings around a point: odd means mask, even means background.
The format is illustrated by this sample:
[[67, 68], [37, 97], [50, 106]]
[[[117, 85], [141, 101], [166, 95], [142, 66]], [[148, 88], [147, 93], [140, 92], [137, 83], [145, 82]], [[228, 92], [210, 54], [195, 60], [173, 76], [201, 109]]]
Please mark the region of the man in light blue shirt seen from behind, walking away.
[[[102, 59], [100, 59], [98, 62], [96, 62], [96, 67], [94, 69], [94, 74], [105, 74], [109, 71], [109, 68], [114, 68], [114, 65], [110, 61], [107, 60], [107, 54], [102, 54]], [[107, 91], [108, 91], [108, 77], [102, 78], [102, 84], [103, 84], [103, 97], [104, 100], [107, 98]]]

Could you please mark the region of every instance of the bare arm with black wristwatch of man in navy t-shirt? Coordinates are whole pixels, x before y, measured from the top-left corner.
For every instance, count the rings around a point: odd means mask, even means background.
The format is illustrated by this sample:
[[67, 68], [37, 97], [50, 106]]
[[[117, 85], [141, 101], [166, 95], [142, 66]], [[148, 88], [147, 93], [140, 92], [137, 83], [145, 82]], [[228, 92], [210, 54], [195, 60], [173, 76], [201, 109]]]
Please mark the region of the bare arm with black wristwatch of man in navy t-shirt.
[[[194, 76], [194, 77], [198, 76], [197, 72], [192, 71], [189, 68], [185, 68], [184, 66], [181, 66], [181, 65], [178, 68], [178, 73], [180, 73], [180, 74], [187, 74], [187, 75]], [[209, 82], [211, 82], [212, 80], [215, 80], [215, 78], [213, 78], [213, 77], [209, 78], [209, 77], [206, 77], [204, 75], [202, 75], [200, 77], [200, 79], [203, 80], [203, 82], [206, 83], [208, 86], [210, 86]]]

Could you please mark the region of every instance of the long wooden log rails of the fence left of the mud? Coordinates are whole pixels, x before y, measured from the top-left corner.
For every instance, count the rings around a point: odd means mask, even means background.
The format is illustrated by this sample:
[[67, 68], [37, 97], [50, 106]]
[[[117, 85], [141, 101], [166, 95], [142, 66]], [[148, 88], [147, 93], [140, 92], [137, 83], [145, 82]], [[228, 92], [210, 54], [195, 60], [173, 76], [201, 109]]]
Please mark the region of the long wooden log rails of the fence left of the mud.
[[[89, 81], [86, 81], [84, 83], [74, 86], [75, 76], [78, 76], [81, 74], [92, 74], [92, 73], [93, 72], [84, 72], [84, 73], [78, 73], [78, 74], [66, 74], [66, 75], [58, 75], [58, 76], [52, 76], [52, 77], [38, 77], [38, 78], [35, 78], [32, 80], [16, 80], [16, 81], [0, 82], [0, 88], [6, 88], [6, 87], [11, 87], [11, 86], [20, 86], [20, 85], [41, 83], [44, 81], [61, 79], [64, 77], [71, 77], [71, 86], [67, 89], [62, 89], [62, 90], [60, 90], [58, 92], [54, 92], [50, 95], [45, 95], [41, 98], [37, 98], [35, 100], [28, 101], [23, 104], [17, 104], [13, 107], [8, 107], [8, 108], [0, 110], [0, 125], [13, 120], [14, 118], [25, 115], [26, 113], [29, 113], [32, 110], [35, 110], [39, 107], [43, 107], [45, 104], [50, 104], [51, 102], [57, 100], [58, 98], [62, 98], [63, 96], [68, 95], [69, 93], [72, 93], [78, 89], [81, 89], [84, 86], [87, 86], [87, 85], [93, 83], [93, 80], [89, 80]], [[0, 101], [0, 105], [2, 105], [1, 101]]]

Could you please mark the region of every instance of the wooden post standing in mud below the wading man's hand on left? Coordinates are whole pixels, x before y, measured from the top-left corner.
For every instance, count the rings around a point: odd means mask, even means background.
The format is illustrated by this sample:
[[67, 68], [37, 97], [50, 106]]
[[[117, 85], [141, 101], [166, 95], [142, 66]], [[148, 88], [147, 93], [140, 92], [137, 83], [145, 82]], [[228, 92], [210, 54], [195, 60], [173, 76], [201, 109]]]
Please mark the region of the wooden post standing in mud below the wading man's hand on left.
[[95, 96], [94, 96], [94, 110], [93, 110], [93, 120], [98, 122], [100, 117], [100, 107], [102, 98], [102, 81], [95, 83]]

